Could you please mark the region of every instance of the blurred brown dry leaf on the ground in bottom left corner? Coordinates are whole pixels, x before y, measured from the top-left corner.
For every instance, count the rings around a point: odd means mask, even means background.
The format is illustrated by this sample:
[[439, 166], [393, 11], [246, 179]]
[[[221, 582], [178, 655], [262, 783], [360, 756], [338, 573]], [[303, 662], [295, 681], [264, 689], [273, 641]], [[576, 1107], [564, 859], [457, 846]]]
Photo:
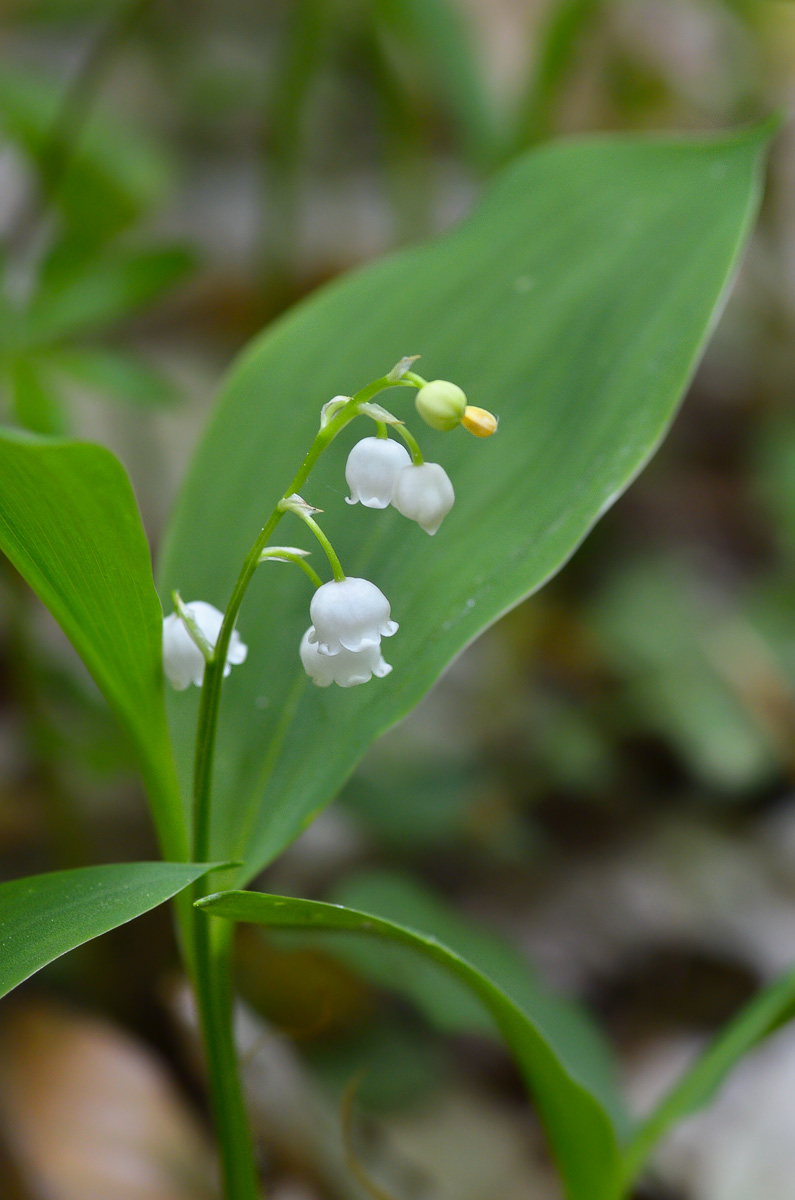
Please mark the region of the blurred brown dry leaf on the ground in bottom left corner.
[[163, 1066], [107, 1021], [37, 1002], [0, 1026], [2, 1141], [47, 1200], [209, 1200], [208, 1136]]

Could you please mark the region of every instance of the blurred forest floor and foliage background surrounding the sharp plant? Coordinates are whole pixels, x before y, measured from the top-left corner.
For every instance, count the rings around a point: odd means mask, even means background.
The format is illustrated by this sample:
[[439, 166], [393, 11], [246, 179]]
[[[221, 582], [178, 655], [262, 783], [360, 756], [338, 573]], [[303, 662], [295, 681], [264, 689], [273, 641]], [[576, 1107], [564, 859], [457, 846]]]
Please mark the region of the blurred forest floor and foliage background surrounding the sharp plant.
[[[4, 0], [1, 419], [115, 450], [156, 553], [223, 372], [285, 307], [447, 228], [548, 137], [719, 130], [794, 98], [775, 0]], [[651, 467], [259, 881], [391, 898], [582, 1006], [633, 1111], [795, 961], [794, 184], [789, 125]], [[122, 738], [5, 562], [0, 766], [2, 877], [156, 856]], [[4, 1200], [217, 1195], [177, 961], [159, 911], [4, 1003]], [[252, 930], [238, 965], [273, 1200], [560, 1195], [455, 989]], [[791, 1198], [793, 1080], [784, 1028], [638, 1200]]]

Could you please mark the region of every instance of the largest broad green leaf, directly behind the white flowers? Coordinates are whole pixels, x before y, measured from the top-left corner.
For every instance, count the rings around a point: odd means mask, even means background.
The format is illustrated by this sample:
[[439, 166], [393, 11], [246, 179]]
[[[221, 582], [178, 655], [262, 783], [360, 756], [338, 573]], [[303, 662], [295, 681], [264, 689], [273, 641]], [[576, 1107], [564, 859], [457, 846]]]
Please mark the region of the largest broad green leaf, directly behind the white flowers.
[[[456, 504], [430, 540], [394, 510], [343, 503], [346, 431], [305, 498], [354, 576], [401, 623], [389, 678], [341, 691], [304, 677], [306, 581], [262, 569], [239, 629], [251, 647], [226, 685], [213, 853], [252, 876], [335, 794], [489, 623], [573, 553], [663, 437], [748, 234], [763, 134], [593, 138], [515, 162], [441, 240], [323, 289], [244, 356], [184, 488], [165, 593], [222, 607], [263, 516], [300, 463], [321, 403], [405, 354], [495, 408], [488, 442], [422, 428]], [[388, 403], [411, 413], [406, 394]], [[288, 518], [293, 522], [294, 518]], [[301, 534], [289, 524], [280, 539]], [[196, 694], [171, 698], [190, 768]], [[186, 780], [187, 782], [187, 775]]]

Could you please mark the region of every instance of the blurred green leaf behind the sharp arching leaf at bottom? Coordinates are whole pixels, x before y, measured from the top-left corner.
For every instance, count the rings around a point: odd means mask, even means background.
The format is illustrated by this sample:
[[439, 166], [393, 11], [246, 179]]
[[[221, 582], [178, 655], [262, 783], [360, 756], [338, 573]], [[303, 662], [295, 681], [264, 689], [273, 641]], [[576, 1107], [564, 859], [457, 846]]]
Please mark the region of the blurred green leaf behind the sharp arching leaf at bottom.
[[[462, 959], [477, 962], [514, 1003], [545, 1031], [551, 1049], [615, 1118], [620, 1130], [628, 1116], [618, 1091], [610, 1048], [587, 1014], [572, 1001], [552, 995], [530, 964], [494, 931], [470, 924], [426, 888], [394, 871], [366, 871], [343, 880], [335, 902], [375, 913], [411, 929], [422, 929]], [[492, 1033], [494, 1024], [472, 992], [417, 955], [377, 940], [351, 941], [342, 958], [383, 988], [406, 992], [426, 1018], [448, 1033]]]

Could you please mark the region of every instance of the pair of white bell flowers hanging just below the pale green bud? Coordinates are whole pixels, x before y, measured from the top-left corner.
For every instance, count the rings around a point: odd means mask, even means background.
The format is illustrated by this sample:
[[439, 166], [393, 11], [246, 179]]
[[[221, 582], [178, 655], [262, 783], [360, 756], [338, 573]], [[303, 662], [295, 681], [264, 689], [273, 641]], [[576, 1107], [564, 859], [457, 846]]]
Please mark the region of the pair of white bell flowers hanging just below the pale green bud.
[[414, 464], [391, 438], [363, 438], [348, 455], [348, 504], [385, 509], [391, 504], [425, 533], [435, 534], [455, 502], [453, 484], [437, 462]]

